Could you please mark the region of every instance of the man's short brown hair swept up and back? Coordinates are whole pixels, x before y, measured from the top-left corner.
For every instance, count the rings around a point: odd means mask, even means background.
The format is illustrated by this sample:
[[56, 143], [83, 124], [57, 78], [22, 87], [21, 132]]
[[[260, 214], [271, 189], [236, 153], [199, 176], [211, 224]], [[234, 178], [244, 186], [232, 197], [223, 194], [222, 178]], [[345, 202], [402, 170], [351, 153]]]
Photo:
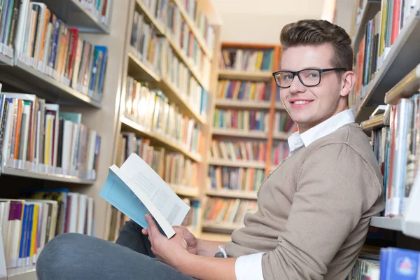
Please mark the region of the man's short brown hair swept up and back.
[[349, 34], [327, 20], [299, 20], [289, 23], [281, 29], [280, 42], [282, 50], [297, 45], [329, 43], [334, 50], [332, 66], [353, 69], [353, 48]]

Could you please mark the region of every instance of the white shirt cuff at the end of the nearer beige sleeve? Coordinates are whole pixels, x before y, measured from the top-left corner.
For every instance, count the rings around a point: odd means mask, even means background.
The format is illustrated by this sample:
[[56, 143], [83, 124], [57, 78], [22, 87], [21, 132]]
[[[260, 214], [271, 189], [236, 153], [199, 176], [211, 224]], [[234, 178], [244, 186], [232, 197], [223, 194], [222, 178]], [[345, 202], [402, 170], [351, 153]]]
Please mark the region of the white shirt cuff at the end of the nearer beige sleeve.
[[254, 253], [242, 255], [235, 262], [235, 275], [237, 280], [264, 280], [262, 276], [262, 255], [265, 253]]

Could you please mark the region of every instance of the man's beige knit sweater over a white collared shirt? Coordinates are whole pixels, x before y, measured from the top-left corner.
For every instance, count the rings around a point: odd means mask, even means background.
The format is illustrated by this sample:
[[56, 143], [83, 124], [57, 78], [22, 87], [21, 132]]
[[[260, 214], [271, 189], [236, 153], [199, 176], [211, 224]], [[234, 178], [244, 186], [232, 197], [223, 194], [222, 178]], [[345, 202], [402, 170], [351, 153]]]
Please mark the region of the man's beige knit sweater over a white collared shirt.
[[258, 252], [265, 280], [345, 279], [370, 217], [384, 209], [382, 176], [356, 123], [290, 156], [262, 182], [258, 211], [226, 244], [230, 257]]

